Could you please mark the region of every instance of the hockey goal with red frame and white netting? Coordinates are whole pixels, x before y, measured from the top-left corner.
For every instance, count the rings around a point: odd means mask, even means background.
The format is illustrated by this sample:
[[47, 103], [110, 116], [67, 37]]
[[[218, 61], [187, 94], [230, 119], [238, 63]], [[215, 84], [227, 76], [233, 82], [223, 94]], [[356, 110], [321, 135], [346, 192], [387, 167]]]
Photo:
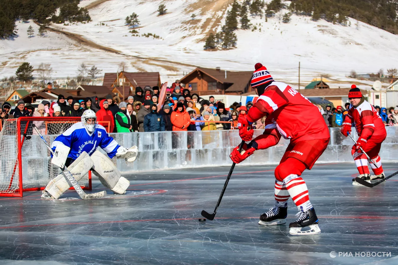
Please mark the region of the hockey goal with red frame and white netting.
[[[22, 197], [23, 191], [43, 190], [60, 168], [51, 164], [50, 151], [33, 124], [50, 145], [80, 117], [20, 117], [3, 121], [0, 132], [0, 196]], [[91, 171], [80, 181], [91, 190]]]

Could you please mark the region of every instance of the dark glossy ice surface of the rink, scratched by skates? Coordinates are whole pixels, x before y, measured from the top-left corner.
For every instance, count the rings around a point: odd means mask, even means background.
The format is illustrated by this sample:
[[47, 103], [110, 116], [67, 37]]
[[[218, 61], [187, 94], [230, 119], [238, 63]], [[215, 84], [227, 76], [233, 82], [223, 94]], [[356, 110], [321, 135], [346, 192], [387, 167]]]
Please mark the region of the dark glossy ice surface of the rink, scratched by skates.
[[[396, 164], [384, 163], [391, 174]], [[228, 166], [158, 170], [125, 175], [126, 195], [108, 190], [83, 201], [74, 191], [62, 199], [0, 198], [1, 264], [383, 264], [396, 255], [396, 179], [375, 188], [352, 186], [353, 164], [316, 164], [303, 174], [322, 233], [289, 235], [297, 208], [289, 201], [287, 224], [258, 226], [273, 206], [275, 166], [236, 166], [214, 221], [213, 211]], [[95, 177], [93, 191], [104, 190]], [[330, 251], [354, 257], [330, 257]], [[355, 252], [391, 257], [355, 257]]]

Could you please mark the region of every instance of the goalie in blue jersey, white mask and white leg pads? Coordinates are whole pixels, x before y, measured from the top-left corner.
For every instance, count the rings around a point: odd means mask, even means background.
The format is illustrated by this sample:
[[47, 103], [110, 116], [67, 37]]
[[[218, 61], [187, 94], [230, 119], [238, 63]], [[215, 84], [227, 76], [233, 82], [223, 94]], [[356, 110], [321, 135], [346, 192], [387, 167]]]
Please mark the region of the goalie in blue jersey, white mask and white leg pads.
[[[137, 146], [124, 148], [109, 136], [103, 126], [97, 124], [96, 114], [92, 110], [84, 111], [82, 122], [73, 124], [53, 141], [51, 148], [54, 156], [51, 163], [62, 168], [68, 167], [76, 181], [79, 181], [92, 169], [101, 183], [115, 194], [124, 194], [130, 186], [129, 180], [122, 177], [110, 158], [125, 159], [134, 162], [137, 159]], [[100, 147], [107, 153], [104, 155]], [[70, 188], [62, 174], [51, 180], [43, 190], [42, 198], [58, 199]]]

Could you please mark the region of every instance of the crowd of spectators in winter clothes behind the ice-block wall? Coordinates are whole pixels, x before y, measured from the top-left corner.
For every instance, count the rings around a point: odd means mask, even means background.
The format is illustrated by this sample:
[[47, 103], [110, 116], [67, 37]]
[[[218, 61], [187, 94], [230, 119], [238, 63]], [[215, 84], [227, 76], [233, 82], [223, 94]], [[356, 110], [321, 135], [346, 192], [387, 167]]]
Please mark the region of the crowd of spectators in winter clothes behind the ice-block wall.
[[[246, 115], [253, 106], [252, 102], [241, 106], [234, 103], [228, 108], [224, 103], [215, 101], [213, 96], [209, 100], [192, 93], [192, 88], [181, 86], [176, 80], [166, 89], [166, 98], [161, 108], [158, 108], [159, 87], [137, 87], [135, 95], [127, 97], [122, 102], [117, 96], [108, 95], [105, 99], [88, 97], [84, 100], [75, 100], [69, 96], [58, 96], [56, 102], [43, 100], [36, 108], [30, 103], [18, 101], [12, 110], [8, 102], [0, 108], [0, 120], [19, 118], [22, 116], [46, 117], [65, 116], [80, 117], [85, 110], [96, 112], [98, 122], [109, 132], [162, 132], [162, 131], [201, 131], [201, 130], [231, 130], [238, 128], [239, 116]], [[322, 108], [317, 105], [329, 127], [337, 128], [343, 123], [347, 115], [349, 103], [344, 109], [342, 106], [333, 108], [327, 105]], [[398, 124], [398, 106], [375, 109], [384, 124]], [[264, 128], [262, 118], [253, 124], [255, 129]]]

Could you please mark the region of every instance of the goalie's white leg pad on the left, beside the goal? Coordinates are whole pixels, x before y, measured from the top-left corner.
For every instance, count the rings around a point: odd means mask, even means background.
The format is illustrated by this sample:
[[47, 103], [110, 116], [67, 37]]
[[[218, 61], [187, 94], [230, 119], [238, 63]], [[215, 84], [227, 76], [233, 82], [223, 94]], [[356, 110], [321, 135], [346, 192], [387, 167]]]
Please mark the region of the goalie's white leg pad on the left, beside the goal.
[[[68, 170], [78, 182], [87, 174], [88, 170], [90, 170], [93, 165], [94, 162], [91, 160], [91, 157], [86, 152], [83, 152], [75, 161], [73, 161], [72, 164], [70, 164], [70, 166], [68, 166]], [[58, 199], [62, 193], [67, 191], [69, 188], [70, 185], [68, 181], [66, 181], [62, 174], [59, 174], [57, 177], [53, 178], [49, 184], [47, 184], [43, 193], [47, 192], [51, 194], [54, 199]]]

